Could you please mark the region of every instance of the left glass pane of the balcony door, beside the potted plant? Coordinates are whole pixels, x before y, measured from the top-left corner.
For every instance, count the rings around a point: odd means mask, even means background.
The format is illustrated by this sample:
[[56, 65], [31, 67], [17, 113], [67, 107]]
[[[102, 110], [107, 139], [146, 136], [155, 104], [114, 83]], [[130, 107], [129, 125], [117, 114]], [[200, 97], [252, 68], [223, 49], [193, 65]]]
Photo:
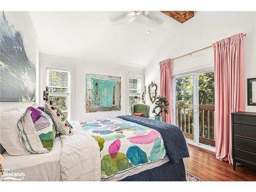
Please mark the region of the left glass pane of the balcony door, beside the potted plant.
[[184, 136], [194, 140], [194, 78], [176, 78], [176, 125]]

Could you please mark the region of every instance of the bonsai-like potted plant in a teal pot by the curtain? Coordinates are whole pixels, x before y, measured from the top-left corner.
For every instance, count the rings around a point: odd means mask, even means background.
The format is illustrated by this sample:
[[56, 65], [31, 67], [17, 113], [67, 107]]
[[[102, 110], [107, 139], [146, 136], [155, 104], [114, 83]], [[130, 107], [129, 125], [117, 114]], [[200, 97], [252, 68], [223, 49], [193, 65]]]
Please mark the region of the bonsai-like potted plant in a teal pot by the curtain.
[[[155, 120], [162, 121], [163, 116], [161, 115], [163, 112], [168, 113], [167, 106], [169, 105], [167, 98], [163, 96], [156, 97], [156, 106], [154, 107], [152, 113], [155, 113]], [[156, 109], [159, 109], [159, 112], [156, 113]]]

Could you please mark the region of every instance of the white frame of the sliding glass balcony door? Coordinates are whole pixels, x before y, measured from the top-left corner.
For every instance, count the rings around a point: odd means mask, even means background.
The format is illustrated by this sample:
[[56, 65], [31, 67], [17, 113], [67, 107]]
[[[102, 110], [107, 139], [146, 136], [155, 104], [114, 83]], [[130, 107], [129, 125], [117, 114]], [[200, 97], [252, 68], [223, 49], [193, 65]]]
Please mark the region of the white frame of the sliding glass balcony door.
[[[196, 111], [198, 110], [198, 75], [205, 73], [205, 72], [214, 72], [214, 68], [205, 68], [205, 69], [199, 69], [199, 70], [195, 70], [195, 71], [190, 71], [190, 72], [185, 72], [185, 73], [180, 73], [180, 74], [176, 74], [172, 76], [172, 94], [173, 94], [173, 98], [172, 98], [172, 110], [173, 110], [173, 124], [176, 125], [176, 78], [179, 77], [185, 77], [185, 76], [193, 76], [193, 100], [194, 100], [194, 120], [195, 120], [195, 124], [197, 126], [199, 126], [199, 113]], [[195, 130], [195, 129], [194, 129]], [[186, 141], [191, 144], [191, 145], [195, 145], [201, 148], [204, 148], [205, 150], [211, 151], [211, 152], [216, 152], [215, 147], [213, 146], [209, 146], [203, 143], [199, 142], [199, 127], [197, 127], [197, 132], [194, 132], [194, 140], [185, 138]]]

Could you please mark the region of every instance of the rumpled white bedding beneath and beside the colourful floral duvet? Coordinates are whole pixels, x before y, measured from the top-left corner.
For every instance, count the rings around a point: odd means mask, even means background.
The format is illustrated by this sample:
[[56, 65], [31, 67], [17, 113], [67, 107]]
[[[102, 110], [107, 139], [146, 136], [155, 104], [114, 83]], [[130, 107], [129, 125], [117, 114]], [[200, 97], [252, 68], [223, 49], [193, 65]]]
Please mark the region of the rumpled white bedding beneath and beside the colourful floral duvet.
[[74, 135], [56, 137], [51, 152], [22, 156], [10, 156], [5, 152], [3, 167], [10, 169], [9, 172], [25, 173], [24, 181], [118, 181], [169, 161], [164, 158], [101, 179], [98, 144], [80, 128], [79, 121], [70, 123], [74, 127]]

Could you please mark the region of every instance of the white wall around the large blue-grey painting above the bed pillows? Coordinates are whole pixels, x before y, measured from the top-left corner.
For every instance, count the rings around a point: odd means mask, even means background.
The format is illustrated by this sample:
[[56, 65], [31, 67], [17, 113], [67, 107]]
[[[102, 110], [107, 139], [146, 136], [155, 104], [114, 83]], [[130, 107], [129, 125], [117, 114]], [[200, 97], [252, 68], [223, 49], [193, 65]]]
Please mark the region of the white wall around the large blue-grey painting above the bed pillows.
[[[24, 11], [5, 11], [9, 25], [13, 25], [15, 29], [22, 32], [24, 46], [29, 58], [36, 65], [36, 74], [38, 74], [38, 45], [37, 37], [29, 12]], [[36, 77], [36, 87], [38, 88], [38, 76]], [[36, 102], [38, 102], [38, 89], [36, 89]], [[26, 108], [31, 105], [30, 102], [0, 102], [0, 111], [11, 109], [14, 107]]]

